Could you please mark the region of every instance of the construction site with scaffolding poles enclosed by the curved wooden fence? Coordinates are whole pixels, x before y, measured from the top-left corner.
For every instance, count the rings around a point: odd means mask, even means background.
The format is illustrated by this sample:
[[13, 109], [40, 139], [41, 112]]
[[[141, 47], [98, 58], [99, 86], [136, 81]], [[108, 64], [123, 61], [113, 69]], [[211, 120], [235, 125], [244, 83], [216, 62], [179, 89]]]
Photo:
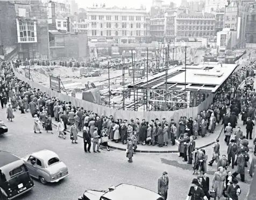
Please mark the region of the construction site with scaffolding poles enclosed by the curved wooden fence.
[[[120, 55], [121, 62], [113, 67], [114, 58], [92, 52], [90, 67], [30, 66], [31, 78], [49, 87], [49, 76], [58, 76], [61, 92], [113, 109], [168, 111], [199, 105], [217, 91], [239, 60], [248, 59], [241, 49], [217, 55], [216, 48], [161, 43], [155, 51]], [[90, 75], [95, 70], [98, 75]], [[19, 73], [25, 73], [24, 67]]]

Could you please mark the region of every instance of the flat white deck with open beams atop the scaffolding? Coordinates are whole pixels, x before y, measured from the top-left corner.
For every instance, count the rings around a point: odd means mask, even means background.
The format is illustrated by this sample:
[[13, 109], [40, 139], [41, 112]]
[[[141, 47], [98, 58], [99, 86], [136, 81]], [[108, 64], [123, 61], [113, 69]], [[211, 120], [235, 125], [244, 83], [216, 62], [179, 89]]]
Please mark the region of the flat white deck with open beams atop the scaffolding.
[[[209, 71], [205, 70], [207, 67]], [[200, 63], [200, 65], [196, 66], [187, 65], [186, 73], [184, 66], [174, 67], [168, 70], [167, 89], [183, 91], [185, 89], [186, 74], [186, 90], [205, 94], [215, 93], [236, 67], [236, 64], [222, 64], [221, 67], [217, 62], [209, 62], [209, 65], [208, 63]], [[128, 88], [133, 88], [133, 84], [127, 86]], [[144, 78], [134, 83], [134, 87], [136, 89], [165, 90], [166, 72], [154, 75], [148, 79], [148, 82]]]

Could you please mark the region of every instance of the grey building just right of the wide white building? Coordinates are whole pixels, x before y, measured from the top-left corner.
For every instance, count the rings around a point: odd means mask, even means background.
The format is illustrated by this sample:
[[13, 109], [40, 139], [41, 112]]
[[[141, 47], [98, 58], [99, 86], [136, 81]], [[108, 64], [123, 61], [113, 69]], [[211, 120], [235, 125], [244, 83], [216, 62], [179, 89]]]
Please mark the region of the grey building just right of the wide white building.
[[150, 34], [155, 41], [165, 41], [166, 18], [164, 13], [159, 13], [150, 19]]

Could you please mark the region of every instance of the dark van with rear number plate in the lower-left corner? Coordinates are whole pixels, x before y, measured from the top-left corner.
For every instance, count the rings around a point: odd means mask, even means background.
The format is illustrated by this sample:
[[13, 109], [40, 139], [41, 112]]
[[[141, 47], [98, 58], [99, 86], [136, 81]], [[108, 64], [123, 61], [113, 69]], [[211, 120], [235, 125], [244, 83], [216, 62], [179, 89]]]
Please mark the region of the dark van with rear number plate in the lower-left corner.
[[16, 198], [33, 187], [24, 161], [9, 152], [0, 151], [0, 199]]

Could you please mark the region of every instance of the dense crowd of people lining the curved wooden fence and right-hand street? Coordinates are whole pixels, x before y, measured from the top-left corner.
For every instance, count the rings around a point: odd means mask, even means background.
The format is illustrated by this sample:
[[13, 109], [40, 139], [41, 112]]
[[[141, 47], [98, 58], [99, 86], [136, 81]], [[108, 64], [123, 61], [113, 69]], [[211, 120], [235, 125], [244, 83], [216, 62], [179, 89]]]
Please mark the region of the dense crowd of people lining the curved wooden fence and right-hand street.
[[[16, 62], [13, 62], [16, 64]], [[8, 119], [14, 118], [13, 111], [20, 110], [25, 114], [30, 112], [34, 118], [34, 133], [41, 132], [41, 125], [45, 130], [52, 132], [52, 118], [58, 123], [57, 131], [59, 137], [66, 139], [67, 125], [70, 125], [70, 140], [72, 144], [77, 144], [78, 131], [83, 131], [84, 151], [90, 152], [91, 142], [93, 151], [100, 152], [103, 146], [109, 151], [108, 141], [122, 142], [127, 145], [126, 156], [132, 162], [132, 156], [136, 152], [137, 145], [158, 145], [167, 146], [168, 142], [175, 145], [175, 139], [179, 141], [180, 157], [188, 162], [194, 169], [193, 174], [199, 174], [201, 178], [207, 175], [208, 155], [204, 149], [196, 147], [198, 137], [205, 137], [207, 131], [212, 134], [215, 132], [216, 125], [224, 124], [225, 142], [227, 144], [227, 156], [219, 153], [219, 140], [216, 139], [214, 154], [209, 166], [217, 162], [218, 172], [215, 173], [212, 183], [216, 197], [221, 198], [227, 184], [236, 185], [236, 176], [240, 174], [241, 181], [245, 181], [245, 167], [247, 167], [248, 140], [252, 139], [252, 120], [256, 117], [256, 92], [251, 85], [246, 85], [243, 89], [239, 88], [240, 83], [246, 78], [254, 77], [255, 63], [244, 66], [227, 78], [225, 84], [219, 88], [214, 97], [213, 103], [207, 110], [198, 113], [197, 118], [181, 117], [179, 122], [174, 119], [168, 122], [165, 118], [152, 119], [146, 122], [134, 119], [113, 119], [113, 116], [99, 115], [93, 111], [86, 111], [83, 108], [72, 105], [72, 102], [65, 102], [62, 99], [48, 96], [39, 89], [31, 88], [29, 84], [18, 80], [12, 72], [10, 62], [1, 62], [1, 105], [6, 107]], [[227, 112], [230, 110], [230, 112]], [[229, 115], [230, 113], [230, 115]], [[246, 136], [237, 126], [239, 116], [246, 125]], [[178, 126], [177, 126], [178, 125]], [[53, 132], [52, 132], [53, 133]], [[255, 140], [254, 140], [255, 142]], [[96, 148], [97, 146], [97, 148]], [[235, 161], [235, 156], [237, 159]], [[232, 174], [227, 172], [227, 166], [238, 165], [237, 170]], [[194, 181], [194, 180], [193, 180]], [[228, 183], [227, 183], [228, 181]], [[193, 183], [194, 184], [194, 183]], [[200, 184], [200, 182], [199, 182]], [[208, 185], [209, 191], [209, 185]], [[203, 189], [203, 188], [202, 188]], [[206, 189], [206, 188], [205, 188]], [[209, 193], [204, 191], [208, 199]], [[190, 191], [190, 195], [193, 191]]]

